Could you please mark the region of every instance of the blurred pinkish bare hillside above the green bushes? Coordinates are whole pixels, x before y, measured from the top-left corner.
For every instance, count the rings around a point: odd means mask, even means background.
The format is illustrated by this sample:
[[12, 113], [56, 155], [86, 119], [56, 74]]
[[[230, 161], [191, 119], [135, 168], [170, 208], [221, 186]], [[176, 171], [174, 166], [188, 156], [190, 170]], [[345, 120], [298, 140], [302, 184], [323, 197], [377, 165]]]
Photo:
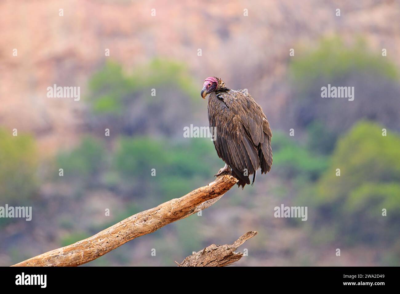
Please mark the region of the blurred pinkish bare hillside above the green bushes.
[[[363, 36], [369, 46], [399, 65], [398, 1], [2, 1], [0, 2], [0, 122], [40, 135], [46, 153], [76, 144], [84, 106], [51, 100], [46, 88], [80, 86], [106, 60], [130, 72], [161, 56], [189, 66], [201, 86], [205, 77], [248, 88], [272, 126], [290, 97], [289, 49], [311, 47], [321, 36], [345, 42]], [[64, 16], [58, 10], [64, 9]], [[150, 15], [156, 9], [156, 16]], [[248, 17], [243, 16], [247, 8]], [[340, 8], [342, 15], [334, 11]], [[17, 48], [18, 57], [12, 56]], [[110, 49], [110, 56], [104, 50]], [[197, 56], [198, 48], [202, 56]], [[300, 53], [300, 52], [299, 52]], [[295, 55], [296, 56], [296, 55]], [[18, 89], [18, 90], [16, 90]], [[205, 109], [205, 108], [204, 108]], [[206, 122], [206, 116], [202, 118]]]

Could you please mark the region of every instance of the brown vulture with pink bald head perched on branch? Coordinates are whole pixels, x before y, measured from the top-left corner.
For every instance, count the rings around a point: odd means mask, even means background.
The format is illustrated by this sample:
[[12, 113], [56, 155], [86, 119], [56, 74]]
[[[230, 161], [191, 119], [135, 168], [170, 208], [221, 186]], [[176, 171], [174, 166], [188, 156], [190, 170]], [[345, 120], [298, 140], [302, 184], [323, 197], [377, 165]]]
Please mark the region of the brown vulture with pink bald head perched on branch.
[[215, 176], [230, 173], [238, 186], [252, 185], [258, 168], [272, 166], [272, 132], [262, 108], [247, 90], [231, 90], [215, 76], [204, 80], [201, 96], [208, 98], [208, 121], [218, 156], [225, 166]]

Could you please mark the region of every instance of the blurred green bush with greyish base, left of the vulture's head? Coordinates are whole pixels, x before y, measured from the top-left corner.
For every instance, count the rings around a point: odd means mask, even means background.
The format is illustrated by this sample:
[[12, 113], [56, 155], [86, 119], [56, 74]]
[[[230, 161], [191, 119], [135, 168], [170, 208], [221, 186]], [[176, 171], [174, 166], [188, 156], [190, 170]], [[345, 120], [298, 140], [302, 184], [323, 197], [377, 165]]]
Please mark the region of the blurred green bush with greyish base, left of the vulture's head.
[[198, 91], [181, 62], [156, 58], [131, 73], [107, 62], [89, 81], [88, 122], [114, 134], [176, 135], [193, 123]]

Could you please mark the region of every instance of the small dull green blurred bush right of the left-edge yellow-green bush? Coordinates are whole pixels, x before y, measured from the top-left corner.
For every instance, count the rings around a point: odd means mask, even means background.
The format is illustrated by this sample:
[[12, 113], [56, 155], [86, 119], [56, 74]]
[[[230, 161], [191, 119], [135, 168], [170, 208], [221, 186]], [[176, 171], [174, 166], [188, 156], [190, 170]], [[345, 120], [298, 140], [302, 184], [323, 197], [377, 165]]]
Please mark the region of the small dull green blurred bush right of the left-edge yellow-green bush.
[[106, 150], [100, 140], [83, 138], [80, 145], [72, 151], [57, 156], [57, 167], [64, 169], [64, 177], [89, 180], [96, 176], [104, 165]]

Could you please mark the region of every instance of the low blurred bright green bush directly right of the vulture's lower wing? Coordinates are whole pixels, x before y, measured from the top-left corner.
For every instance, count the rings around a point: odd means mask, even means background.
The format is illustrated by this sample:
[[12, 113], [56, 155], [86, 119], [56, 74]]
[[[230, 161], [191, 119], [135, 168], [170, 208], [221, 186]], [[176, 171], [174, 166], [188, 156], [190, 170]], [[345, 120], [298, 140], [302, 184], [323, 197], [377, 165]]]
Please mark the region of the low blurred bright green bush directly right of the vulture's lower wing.
[[326, 158], [310, 153], [293, 137], [276, 132], [272, 138], [273, 169], [287, 178], [304, 177], [315, 180], [327, 166]]

